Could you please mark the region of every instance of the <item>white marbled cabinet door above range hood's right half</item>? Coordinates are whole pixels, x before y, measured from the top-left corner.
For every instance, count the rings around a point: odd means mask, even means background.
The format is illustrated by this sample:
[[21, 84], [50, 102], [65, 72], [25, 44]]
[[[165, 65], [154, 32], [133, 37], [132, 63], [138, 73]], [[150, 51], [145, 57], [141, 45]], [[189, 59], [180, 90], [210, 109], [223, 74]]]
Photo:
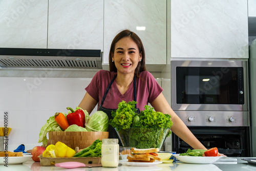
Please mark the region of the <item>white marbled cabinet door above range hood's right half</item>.
[[49, 49], [103, 51], [103, 0], [49, 0]]

